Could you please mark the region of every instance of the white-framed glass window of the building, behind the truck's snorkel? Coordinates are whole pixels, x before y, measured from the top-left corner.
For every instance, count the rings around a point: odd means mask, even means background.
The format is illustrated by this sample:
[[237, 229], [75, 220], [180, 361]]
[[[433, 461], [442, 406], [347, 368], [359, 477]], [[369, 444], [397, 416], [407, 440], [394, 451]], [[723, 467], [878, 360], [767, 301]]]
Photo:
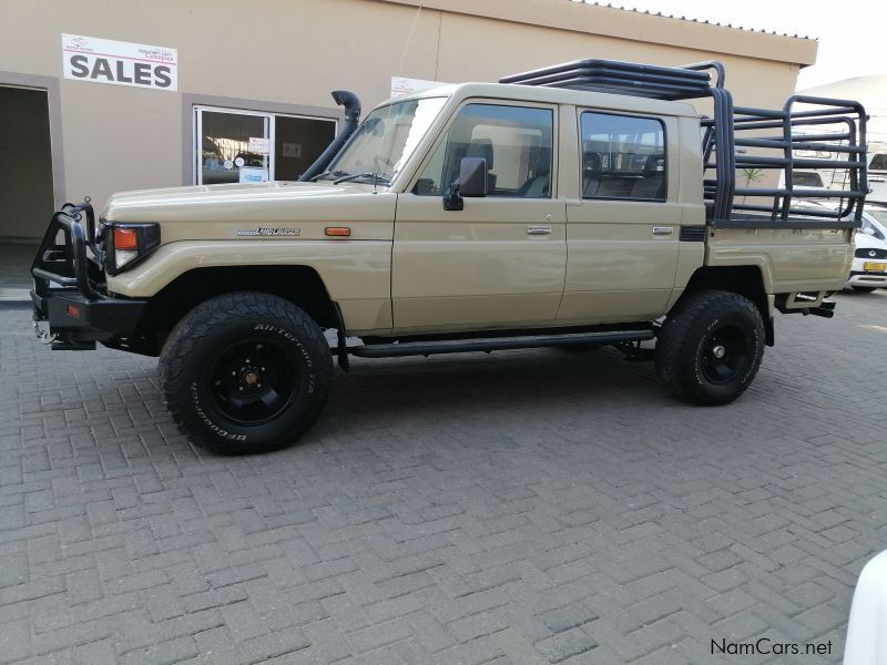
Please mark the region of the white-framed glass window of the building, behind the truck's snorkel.
[[194, 184], [298, 180], [336, 135], [336, 121], [194, 106]]

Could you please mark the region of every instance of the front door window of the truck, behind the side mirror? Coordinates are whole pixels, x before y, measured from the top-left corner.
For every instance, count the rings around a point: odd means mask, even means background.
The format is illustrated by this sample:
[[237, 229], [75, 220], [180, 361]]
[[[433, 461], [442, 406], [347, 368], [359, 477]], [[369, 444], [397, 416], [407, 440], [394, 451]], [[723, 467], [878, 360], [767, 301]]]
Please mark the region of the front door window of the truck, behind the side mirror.
[[416, 193], [441, 195], [459, 178], [462, 157], [483, 157], [489, 196], [548, 198], [552, 129], [549, 109], [468, 104], [425, 167]]

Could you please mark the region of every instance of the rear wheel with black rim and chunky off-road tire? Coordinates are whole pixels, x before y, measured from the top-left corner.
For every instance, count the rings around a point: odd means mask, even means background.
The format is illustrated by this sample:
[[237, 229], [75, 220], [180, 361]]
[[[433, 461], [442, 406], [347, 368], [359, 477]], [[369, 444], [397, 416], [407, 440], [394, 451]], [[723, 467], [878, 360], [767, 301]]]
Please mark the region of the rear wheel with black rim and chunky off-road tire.
[[[720, 338], [730, 340], [728, 348], [738, 349], [732, 357], [727, 352], [726, 360], [717, 359], [714, 352], [715, 347], [726, 346], [718, 344]], [[764, 319], [754, 303], [731, 291], [699, 291], [679, 303], [662, 325], [655, 349], [656, 374], [669, 392], [681, 400], [725, 405], [752, 383], [764, 345]], [[731, 360], [736, 364], [732, 374], [727, 366]]]

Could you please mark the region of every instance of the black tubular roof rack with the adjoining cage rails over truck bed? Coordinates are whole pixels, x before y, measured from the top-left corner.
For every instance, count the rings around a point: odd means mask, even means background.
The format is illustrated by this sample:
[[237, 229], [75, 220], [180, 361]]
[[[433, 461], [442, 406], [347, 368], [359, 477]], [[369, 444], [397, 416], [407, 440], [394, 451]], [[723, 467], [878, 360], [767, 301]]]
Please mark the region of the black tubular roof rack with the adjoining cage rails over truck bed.
[[[513, 74], [499, 82], [669, 101], [712, 98], [714, 113], [702, 117], [703, 192], [708, 225], [721, 228], [861, 225], [868, 174], [867, 116], [859, 102], [793, 95], [781, 110], [734, 106], [733, 95], [724, 88], [724, 65], [715, 61], [671, 68], [578, 60]], [[814, 156], [797, 156], [797, 151]], [[825, 152], [843, 158], [815, 156]], [[795, 170], [820, 167], [845, 170], [845, 187], [793, 185]], [[744, 186], [737, 186], [737, 177], [745, 180]], [[759, 181], [775, 180], [783, 184], [753, 186]], [[834, 209], [805, 206], [803, 213], [793, 206], [798, 201], [817, 198], [838, 200], [838, 205]]]

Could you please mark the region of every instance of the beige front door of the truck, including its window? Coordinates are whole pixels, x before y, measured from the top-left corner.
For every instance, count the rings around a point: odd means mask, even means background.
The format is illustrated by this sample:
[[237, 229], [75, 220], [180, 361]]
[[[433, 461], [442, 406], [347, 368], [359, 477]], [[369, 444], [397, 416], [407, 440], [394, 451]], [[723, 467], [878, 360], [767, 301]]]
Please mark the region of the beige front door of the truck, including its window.
[[[567, 264], [552, 164], [555, 109], [467, 103], [401, 194], [391, 300], [398, 332], [553, 321]], [[443, 209], [463, 157], [487, 160], [488, 195]]]

